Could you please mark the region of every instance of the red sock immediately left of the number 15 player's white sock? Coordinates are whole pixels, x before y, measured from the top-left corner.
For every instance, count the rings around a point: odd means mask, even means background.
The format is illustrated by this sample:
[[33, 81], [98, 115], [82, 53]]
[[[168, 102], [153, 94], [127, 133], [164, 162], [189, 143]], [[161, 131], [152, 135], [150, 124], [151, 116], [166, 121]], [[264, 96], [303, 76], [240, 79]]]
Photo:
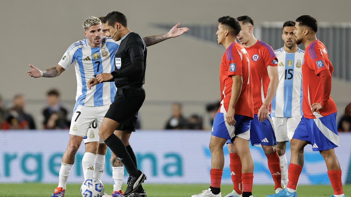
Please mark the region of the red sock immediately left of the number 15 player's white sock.
[[[266, 155], [268, 161], [268, 168], [274, 181], [274, 190], [282, 188], [282, 169], [280, 168], [280, 158], [277, 150], [273, 154]], [[289, 179], [290, 181], [290, 179]]]

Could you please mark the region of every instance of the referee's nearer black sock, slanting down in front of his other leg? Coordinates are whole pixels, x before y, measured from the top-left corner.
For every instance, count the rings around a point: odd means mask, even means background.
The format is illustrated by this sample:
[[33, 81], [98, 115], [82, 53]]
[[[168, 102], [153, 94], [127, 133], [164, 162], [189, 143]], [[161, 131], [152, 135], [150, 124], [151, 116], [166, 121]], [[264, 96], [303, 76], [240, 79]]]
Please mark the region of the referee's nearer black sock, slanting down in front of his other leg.
[[139, 176], [139, 170], [134, 164], [131, 156], [123, 143], [123, 141], [115, 134], [111, 134], [105, 141], [105, 144], [111, 149], [111, 151], [121, 159], [121, 162], [126, 167], [126, 170], [130, 176]]

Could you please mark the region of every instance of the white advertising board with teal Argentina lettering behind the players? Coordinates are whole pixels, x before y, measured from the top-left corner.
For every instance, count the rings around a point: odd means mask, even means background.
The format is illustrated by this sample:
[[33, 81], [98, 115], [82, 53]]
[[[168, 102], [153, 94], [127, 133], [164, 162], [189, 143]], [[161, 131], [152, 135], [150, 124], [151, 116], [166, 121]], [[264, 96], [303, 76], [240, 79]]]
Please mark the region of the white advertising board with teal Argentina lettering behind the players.
[[[138, 130], [132, 135], [130, 143], [137, 156], [139, 169], [147, 175], [147, 183], [209, 183], [210, 135], [210, 131]], [[58, 182], [61, 157], [68, 139], [67, 130], [0, 131], [0, 183]], [[340, 147], [335, 149], [343, 171], [344, 184], [351, 183], [350, 141], [351, 134], [340, 134]], [[287, 147], [289, 161], [289, 145]], [[231, 184], [226, 147], [224, 152], [226, 162], [222, 183]], [[251, 153], [254, 160], [254, 184], [273, 184], [262, 149], [251, 147]], [[84, 144], [75, 157], [68, 184], [84, 181], [81, 169], [83, 154]], [[299, 184], [330, 184], [324, 159], [319, 152], [312, 152], [311, 145], [307, 145], [304, 154], [305, 165]], [[104, 183], [113, 183], [110, 157], [108, 149], [102, 177]]]

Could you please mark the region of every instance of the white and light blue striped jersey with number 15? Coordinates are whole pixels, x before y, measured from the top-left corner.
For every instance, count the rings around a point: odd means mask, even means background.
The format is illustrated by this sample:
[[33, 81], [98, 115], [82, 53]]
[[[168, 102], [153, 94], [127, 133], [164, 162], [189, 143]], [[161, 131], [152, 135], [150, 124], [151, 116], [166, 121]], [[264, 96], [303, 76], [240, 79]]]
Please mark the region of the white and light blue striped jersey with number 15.
[[272, 101], [271, 116], [302, 116], [302, 62], [305, 51], [287, 53], [283, 47], [274, 50], [278, 57], [279, 84]]

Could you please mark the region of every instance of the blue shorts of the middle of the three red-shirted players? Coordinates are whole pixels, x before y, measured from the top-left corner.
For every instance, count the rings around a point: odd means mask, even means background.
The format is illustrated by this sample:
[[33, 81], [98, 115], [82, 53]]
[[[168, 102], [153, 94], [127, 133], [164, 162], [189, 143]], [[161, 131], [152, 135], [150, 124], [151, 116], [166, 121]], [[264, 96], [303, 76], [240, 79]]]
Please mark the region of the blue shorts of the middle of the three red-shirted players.
[[253, 146], [272, 146], [277, 144], [271, 115], [263, 122], [258, 120], [257, 114], [254, 115], [251, 121], [250, 141]]

